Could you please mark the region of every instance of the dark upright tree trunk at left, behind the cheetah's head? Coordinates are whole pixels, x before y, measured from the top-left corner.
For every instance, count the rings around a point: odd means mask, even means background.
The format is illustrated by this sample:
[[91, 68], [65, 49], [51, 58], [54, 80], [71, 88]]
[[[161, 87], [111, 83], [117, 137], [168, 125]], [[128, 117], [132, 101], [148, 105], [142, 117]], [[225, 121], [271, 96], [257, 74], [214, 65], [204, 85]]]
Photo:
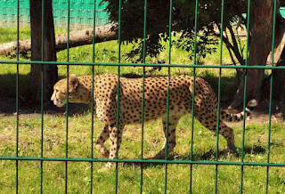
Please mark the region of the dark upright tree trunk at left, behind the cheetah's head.
[[[52, 0], [44, 1], [44, 48], [42, 57], [42, 0], [29, 0], [31, 27], [31, 61], [56, 61]], [[43, 59], [42, 59], [43, 58]], [[41, 87], [41, 72], [44, 87]], [[32, 64], [30, 69], [29, 100], [35, 104], [41, 101], [43, 89], [44, 103], [50, 102], [53, 85], [58, 80], [56, 65]]]

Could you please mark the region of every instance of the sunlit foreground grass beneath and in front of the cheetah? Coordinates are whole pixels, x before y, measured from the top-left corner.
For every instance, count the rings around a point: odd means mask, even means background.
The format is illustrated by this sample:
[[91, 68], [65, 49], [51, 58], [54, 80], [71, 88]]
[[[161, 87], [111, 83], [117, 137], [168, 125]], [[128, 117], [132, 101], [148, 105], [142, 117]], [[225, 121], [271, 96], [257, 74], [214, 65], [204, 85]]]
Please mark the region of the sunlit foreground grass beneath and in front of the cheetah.
[[[16, 153], [16, 118], [1, 117], [3, 130], [0, 133], [0, 156], [15, 156]], [[41, 120], [39, 117], [24, 118], [20, 116], [19, 156], [40, 157], [41, 155]], [[241, 124], [240, 124], [241, 125]], [[236, 145], [241, 148], [241, 126], [233, 126]], [[45, 115], [43, 154], [45, 158], [65, 158], [66, 117], [63, 115]], [[68, 150], [69, 158], [91, 157], [91, 113], [69, 117]], [[273, 123], [270, 147], [270, 162], [283, 163], [284, 139], [282, 123]], [[95, 120], [94, 141], [102, 130], [102, 123]], [[245, 162], [267, 161], [268, 124], [250, 124], [245, 129]], [[219, 138], [219, 148], [224, 150], [224, 138]], [[161, 124], [151, 121], [144, 127], [143, 157], [151, 157], [163, 145]], [[106, 142], [107, 146], [109, 141]], [[199, 122], [194, 123], [193, 160], [216, 161], [216, 137]], [[191, 118], [185, 116], [177, 126], [177, 146], [169, 159], [189, 159], [191, 156]], [[126, 125], [118, 158], [141, 157], [141, 125]], [[94, 150], [94, 158], [102, 158]], [[219, 158], [222, 161], [240, 161], [241, 158]], [[98, 171], [103, 163], [94, 163], [94, 193], [110, 193], [115, 190], [115, 167], [107, 172]], [[11, 193], [15, 190], [15, 161], [0, 160], [0, 193]], [[217, 190], [219, 193], [239, 193], [241, 166], [217, 166]], [[163, 193], [165, 190], [165, 166], [145, 165], [142, 168], [143, 193]], [[190, 189], [190, 165], [167, 165], [167, 193], [187, 193]], [[192, 192], [213, 193], [216, 185], [216, 166], [192, 166]], [[269, 168], [269, 193], [285, 191], [284, 167]], [[43, 189], [45, 192], [62, 193], [65, 190], [65, 163], [43, 163]], [[88, 162], [68, 163], [68, 190], [72, 193], [87, 193], [90, 190], [91, 165]], [[265, 166], [244, 166], [243, 190], [245, 193], [264, 193], [266, 188]], [[118, 193], [139, 193], [141, 167], [132, 163], [118, 164]], [[231, 185], [231, 186], [229, 186]], [[40, 191], [40, 162], [19, 161], [19, 192]]]

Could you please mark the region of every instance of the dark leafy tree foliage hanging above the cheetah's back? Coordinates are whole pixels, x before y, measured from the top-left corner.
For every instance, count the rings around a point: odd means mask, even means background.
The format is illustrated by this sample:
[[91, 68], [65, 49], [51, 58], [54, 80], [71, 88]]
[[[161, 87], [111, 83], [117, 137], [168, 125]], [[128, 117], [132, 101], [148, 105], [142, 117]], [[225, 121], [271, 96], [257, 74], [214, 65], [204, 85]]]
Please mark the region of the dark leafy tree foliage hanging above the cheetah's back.
[[[171, 23], [171, 31], [181, 32], [175, 45], [186, 51], [192, 51], [193, 41], [190, 43], [189, 37], [193, 38], [196, 31], [199, 36], [196, 42], [196, 54], [198, 57], [205, 57], [205, 54], [215, 52], [211, 47], [206, 46], [216, 44], [213, 36], [220, 37], [221, 31], [232, 30], [233, 24], [240, 27], [245, 23], [242, 13], [247, 12], [248, 4], [248, 1], [243, 0], [224, 1], [222, 26], [223, 6], [220, 0], [200, 0], [197, 7], [196, 1], [193, 0], [173, 0], [170, 22], [170, 1], [168, 0], [148, 0], [146, 4], [144, 0], [122, 0], [121, 3], [118, 0], [104, 0], [103, 2], [108, 3], [106, 11], [110, 13], [110, 20], [117, 23], [120, 21], [121, 40], [126, 43], [140, 43], [131, 53], [128, 53], [129, 57], [139, 56], [137, 61], [142, 61], [143, 44], [138, 39], [143, 37], [144, 20], [146, 20], [145, 51], [147, 55], [156, 57], [163, 49], [159, 41], [169, 37], [169, 23]], [[195, 17], [197, 17], [196, 29]], [[230, 40], [229, 36], [223, 38], [227, 48], [242, 62], [239, 47], [235, 45], [237, 40]]]

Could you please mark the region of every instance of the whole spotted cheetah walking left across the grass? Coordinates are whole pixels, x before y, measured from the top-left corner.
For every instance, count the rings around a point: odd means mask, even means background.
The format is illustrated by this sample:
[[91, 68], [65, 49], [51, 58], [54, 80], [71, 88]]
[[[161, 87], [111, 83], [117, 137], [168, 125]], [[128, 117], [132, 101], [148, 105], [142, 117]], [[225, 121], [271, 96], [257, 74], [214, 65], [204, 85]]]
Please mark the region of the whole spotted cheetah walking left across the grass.
[[[63, 106], [67, 101], [67, 80], [67, 78], [61, 79], [53, 87], [51, 100], [58, 107]], [[194, 82], [195, 93], [193, 95]], [[94, 77], [71, 75], [69, 77], [69, 102], [91, 104], [92, 91], [94, 91], [94, 112], [98, 119], [105, 123], [96, 141], [96, 149], [105, 158], [116, 158], [125, 125], [142, 122], [142, 85], [142, 78], [118, 78], [115, 74], [102, 74]], [[217, 98], [211, 86], [204, 79], [199, 77], [194, 79], [186, 75], [173, 76], [169, 79], [168, 77], [144, 79], [143, 122], [161, 117], [165, 135], [162, 149], [151, 159], [165, 158], [166, 150], [167, 154], [174, 150], [176, 125], [183, 115], [191, 113], [193, 97], [194, 116], [210, 131], [216, 132]], [[249, 111], [250, 109], [247, 108], [244, 112], [230, 114], [223, 109], [220, 110], [218, 130], [227, 141], [227, 150], [230, 153], [236, 153], [234, 133], [231, 127], [224, 124], [224, 121], [240, 121], [244, 116], [249, 115]], [[110, 151], [103, 145], [108, 138], [110, 138]], [[110, 166], [109, 162], [106, 167]]]

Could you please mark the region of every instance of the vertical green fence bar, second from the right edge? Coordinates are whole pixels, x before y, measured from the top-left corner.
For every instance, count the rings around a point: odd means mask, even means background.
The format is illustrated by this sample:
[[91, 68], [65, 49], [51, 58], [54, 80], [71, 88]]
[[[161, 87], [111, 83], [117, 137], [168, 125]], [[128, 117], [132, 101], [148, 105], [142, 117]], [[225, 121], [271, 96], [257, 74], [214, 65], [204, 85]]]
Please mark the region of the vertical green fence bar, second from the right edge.
[[[248, 0], [248, 13], [247, 13], [247, 35], [249, 36], [249, 24], [250, 24], [250, 0]], [[246, 60], [245, 65], [248, 66], [248, 47], [249, 47], [249, 38], [247, 36], [247, 48], [246, 48]], [[247, 101], [247, 72], [248, 69], [245, 69], [244, 74], [244, 90], [243, 90], [243, 111], [246, 109], [246, 103]], [[244, 162], [244, 144], [245, 144], [245, 128], [246, 128], [246, 119], [243, 118], [242, 121], [242, 140], [241, 140], [241, 162]], [[240, 166], [240, 194], [243, 193], [243, 176], [244, 176], [244, 166]]]

